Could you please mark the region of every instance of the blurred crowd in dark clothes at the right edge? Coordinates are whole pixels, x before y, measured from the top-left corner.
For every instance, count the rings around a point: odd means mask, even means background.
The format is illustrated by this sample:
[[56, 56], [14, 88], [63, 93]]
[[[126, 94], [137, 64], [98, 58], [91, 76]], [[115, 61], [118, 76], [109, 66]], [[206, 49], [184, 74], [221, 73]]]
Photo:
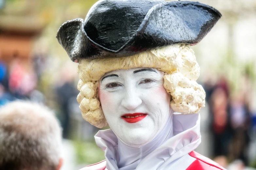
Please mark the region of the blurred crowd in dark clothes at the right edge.
[[234, 92], [228, 80], [220, 77], [216, 83], [206, 81], [204, 89], [210, 112], [213, 157], [224, 158], [226, 163], [239, 160], [248, 166], [253, 164], [249, 149], [250, 144], [255, 144], [256, 115], [250, 101], [252, 82], [246, 73], [240, 83], [239, 90]]

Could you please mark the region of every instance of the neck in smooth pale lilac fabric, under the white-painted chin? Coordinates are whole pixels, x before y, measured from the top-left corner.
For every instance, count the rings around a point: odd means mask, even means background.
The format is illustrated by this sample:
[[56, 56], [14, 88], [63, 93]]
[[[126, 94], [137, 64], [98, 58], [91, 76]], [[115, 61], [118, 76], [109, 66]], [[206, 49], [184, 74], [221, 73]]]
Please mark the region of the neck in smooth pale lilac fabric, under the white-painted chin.
[[148, 154], [171, 138], [173, 136], [172, 118], [172, 109], [170, 109], [170, 113], [167, 114], [165, 122], [158, 130], [158, 133], [149, 143], [142, 147], [131, 147], [118, 139], [118, 168], [120, 170], [135, 169]]

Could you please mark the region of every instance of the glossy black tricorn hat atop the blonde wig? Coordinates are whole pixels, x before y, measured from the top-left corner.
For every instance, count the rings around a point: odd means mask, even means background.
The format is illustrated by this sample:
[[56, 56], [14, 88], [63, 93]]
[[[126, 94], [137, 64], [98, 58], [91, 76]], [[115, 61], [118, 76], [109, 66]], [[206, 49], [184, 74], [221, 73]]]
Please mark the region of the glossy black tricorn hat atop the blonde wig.
[[194, 1], [100, 0], [85, 21], [63, 23], [57, 39], [72, 61], [133, 55], [172, 44], [195, 45], [220, 19]]

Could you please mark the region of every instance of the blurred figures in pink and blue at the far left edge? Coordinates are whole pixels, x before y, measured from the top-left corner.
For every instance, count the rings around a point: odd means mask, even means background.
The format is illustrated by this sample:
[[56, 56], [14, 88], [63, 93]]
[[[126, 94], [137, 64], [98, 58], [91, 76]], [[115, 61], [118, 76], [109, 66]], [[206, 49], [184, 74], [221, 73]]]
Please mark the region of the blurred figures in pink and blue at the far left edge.
[[43, 93], [36, 90], [41, 73], [35, 69], [36, 62], [33, 64], [30, 67], [19, 57], [8, 65], [0, 60], [0, 105], [16, 99], [44, 103]]

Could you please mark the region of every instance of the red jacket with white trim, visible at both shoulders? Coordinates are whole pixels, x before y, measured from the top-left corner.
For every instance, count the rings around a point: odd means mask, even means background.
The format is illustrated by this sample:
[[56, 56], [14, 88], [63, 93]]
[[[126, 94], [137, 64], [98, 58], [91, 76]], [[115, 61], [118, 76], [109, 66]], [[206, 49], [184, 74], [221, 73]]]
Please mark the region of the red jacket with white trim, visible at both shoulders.
[[[186, 170], [226, 170], [218, 163], [215, 163], [209, 158], [200, 155], [199, 153], [192, 151], [189, 155], [196, 160], [190, 164], [190, 166]], [[106, 169], [106, 160], [101, 161], [99, 163], [95, 163], [89, 166], [86, 166], [80, 170], [105, 170]]]

